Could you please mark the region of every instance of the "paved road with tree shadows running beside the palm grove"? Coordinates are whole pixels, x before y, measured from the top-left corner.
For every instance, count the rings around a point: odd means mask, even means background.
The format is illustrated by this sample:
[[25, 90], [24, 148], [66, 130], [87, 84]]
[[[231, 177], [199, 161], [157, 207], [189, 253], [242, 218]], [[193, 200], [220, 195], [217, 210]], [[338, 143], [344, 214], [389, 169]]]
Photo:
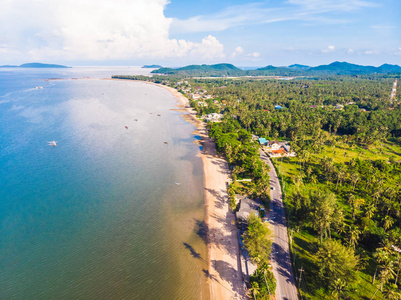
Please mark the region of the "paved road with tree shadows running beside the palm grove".
[[271, 254], [273, 274], [277, 280], [276, 299], [297, 300], [298, 293], [292, 272], [290, 249], [287, 235], [287, 222], [285, 219], [283, 196], [276, 170], [270, 158], [260, 150], [260, 158], [270, 166], [270, 223], [274, 232], [274, 241]]

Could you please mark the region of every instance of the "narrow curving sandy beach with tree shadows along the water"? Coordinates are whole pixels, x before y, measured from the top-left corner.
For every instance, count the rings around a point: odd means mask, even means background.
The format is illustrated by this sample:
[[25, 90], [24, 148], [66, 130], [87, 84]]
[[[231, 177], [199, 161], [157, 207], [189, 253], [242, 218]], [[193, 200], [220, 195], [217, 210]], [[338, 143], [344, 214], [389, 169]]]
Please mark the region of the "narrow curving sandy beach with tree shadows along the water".
[[177, 97], [178, 107], [183, 111], [184, 118], [197, 127], [196, 134], [201, 137], [209, 262], [209, 270], [205, 275], [209, 279], [210, 298], [247, 299], [243, 286], [234, 214], [228, 203], [227, 162], [217, 156], [215, 144], [208, 136], [205, 123], [196, 118], [188, 99], [174, 88], [157, 85]]

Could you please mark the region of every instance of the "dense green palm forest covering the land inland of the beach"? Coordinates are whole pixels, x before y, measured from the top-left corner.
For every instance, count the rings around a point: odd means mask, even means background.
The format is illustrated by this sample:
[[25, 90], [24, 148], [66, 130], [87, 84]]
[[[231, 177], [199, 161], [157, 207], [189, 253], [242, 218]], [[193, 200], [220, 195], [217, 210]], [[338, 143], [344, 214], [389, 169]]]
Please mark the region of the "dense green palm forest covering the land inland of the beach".
[[242, 188], [252, 197], [269, 193], [252, 135], [290, 142], [297, 156], [273, 163], [302, 299], [401, 299], [401, 99], [390, 100], [399, 77], [147, 80], [212, 96], [191, 105], [199, 117], [223, 114], [210, 135], [233, 179], [252, 179]]

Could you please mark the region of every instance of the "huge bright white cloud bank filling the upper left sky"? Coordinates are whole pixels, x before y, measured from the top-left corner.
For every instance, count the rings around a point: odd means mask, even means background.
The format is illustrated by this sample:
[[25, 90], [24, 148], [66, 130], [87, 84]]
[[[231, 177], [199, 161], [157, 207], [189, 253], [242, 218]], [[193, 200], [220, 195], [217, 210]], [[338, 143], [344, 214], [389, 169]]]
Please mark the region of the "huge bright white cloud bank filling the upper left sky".
[[211, 35], [201, 42], [170, 39], [167, 0], [1, 2], [3, 60], [224, 57], [223, 45]]

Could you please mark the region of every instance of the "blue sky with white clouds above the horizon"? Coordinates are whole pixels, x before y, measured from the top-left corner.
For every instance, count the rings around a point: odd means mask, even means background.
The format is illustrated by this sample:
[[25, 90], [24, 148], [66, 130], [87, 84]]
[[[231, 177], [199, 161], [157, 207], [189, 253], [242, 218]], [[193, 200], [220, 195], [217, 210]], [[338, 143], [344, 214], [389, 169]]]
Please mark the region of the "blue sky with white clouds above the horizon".
[[401, 65], [400, 0], [0, 0], [0, 65]]

